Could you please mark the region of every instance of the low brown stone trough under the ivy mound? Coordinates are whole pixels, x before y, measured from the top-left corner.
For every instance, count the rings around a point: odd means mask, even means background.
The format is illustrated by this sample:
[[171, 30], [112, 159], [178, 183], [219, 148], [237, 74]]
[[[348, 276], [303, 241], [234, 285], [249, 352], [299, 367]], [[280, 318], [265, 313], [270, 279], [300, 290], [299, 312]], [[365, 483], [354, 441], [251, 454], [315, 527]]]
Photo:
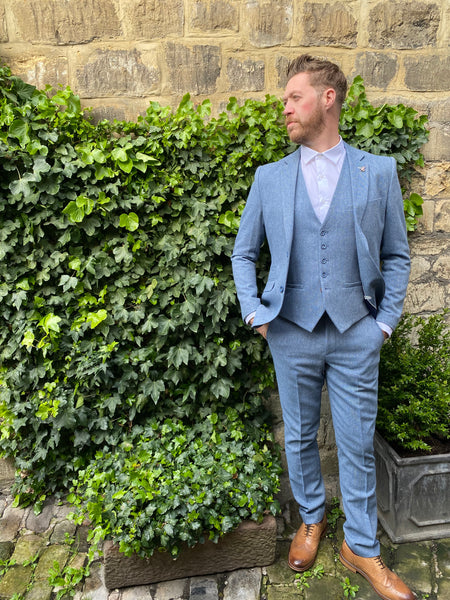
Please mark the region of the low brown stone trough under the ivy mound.
[[267, 516], [262, 523], [244, 521], [217, 544], [207, 541], [183, 548], [176, 560], [167, 552], [144, 559], [127, 557], [112, 542], [103, 548], [105, 584], [110, 590], [160, 581], [263, 567], [275, 561], [277, 526]]

